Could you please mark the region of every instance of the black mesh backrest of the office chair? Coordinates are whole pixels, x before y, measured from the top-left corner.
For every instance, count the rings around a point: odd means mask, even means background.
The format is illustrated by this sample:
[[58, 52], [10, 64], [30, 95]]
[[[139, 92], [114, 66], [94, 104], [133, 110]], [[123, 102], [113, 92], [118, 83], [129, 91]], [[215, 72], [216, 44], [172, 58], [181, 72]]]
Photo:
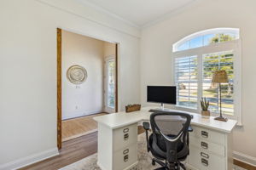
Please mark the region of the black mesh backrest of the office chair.
[[151, 114], [154, 152], [166, 157], [168, 162], [177, 162], [178, 158], [187, 156], [190, 121], [191, 116], [183, 112], [159, 111]]

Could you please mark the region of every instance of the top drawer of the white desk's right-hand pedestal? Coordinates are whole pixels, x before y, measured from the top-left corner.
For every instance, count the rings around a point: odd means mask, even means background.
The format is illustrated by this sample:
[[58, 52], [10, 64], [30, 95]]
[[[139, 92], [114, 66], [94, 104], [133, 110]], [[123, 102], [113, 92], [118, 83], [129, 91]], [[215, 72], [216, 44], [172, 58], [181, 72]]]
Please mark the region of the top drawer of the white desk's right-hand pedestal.
[[190, 136], [195, 136], [203, 140], [210, 141], [215, 144], [225, 145], [224, 133], [218, 133], [206, 128], [192, 126], [193, 132], [189, 133]]

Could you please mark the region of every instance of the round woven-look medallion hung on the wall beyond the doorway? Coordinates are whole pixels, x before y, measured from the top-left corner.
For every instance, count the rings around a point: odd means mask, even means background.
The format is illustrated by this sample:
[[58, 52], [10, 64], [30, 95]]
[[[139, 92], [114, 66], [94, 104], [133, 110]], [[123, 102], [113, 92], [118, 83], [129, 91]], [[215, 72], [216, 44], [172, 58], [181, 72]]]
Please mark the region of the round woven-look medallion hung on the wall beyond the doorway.
[[87, 79], [87, 71], [81, 65], [72, 65], [67, 69], [67, 79], [73, 84], [81, 84]]

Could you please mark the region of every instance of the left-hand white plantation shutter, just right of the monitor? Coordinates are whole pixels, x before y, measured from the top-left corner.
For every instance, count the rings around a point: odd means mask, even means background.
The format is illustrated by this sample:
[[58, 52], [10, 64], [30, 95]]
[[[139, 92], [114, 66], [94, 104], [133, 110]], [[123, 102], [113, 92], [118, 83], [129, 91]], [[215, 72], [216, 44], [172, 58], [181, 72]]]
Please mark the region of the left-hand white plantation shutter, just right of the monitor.
[[177, 86], [177, 105], [197, 108], [197, 56], [175, 59], [175, 82]]

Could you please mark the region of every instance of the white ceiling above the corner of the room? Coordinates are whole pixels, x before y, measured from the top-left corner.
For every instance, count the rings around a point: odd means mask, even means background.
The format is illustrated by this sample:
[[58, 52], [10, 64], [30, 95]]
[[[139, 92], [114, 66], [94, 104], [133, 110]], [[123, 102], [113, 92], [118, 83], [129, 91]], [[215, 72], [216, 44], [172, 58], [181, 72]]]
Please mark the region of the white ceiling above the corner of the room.
[[195, 0], [79, 0], [142, 27]]

